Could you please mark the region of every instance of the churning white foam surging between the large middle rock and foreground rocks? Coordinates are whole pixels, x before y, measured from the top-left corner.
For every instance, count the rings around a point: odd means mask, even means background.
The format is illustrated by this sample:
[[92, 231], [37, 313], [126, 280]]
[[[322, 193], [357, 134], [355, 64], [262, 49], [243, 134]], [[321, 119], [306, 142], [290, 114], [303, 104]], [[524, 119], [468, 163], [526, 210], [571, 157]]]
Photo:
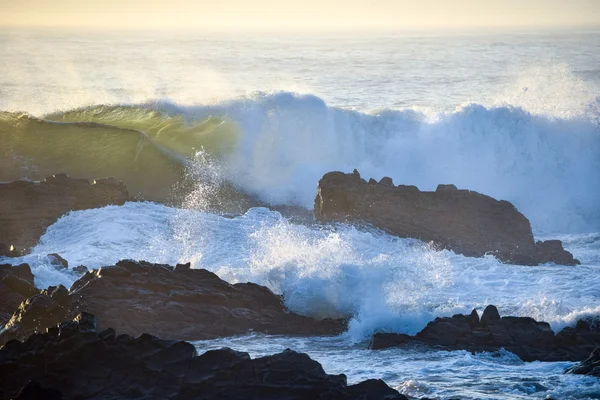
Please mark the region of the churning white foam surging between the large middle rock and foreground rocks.
[[555, 329], [600, 311], [597, 263], [505, 265], [344, 224], [297, 225], [265, 208], [235, 218], [154, 203], [72, 212], [47, 230], [31, 255], [12, 262], [31, 263], [40, 287], [73, 282], [74, 275], [49, 266], [46, 254], [54, 252], [71, 266], [124, 258], [191, 261], [230, 282], [266, 285], [296, 312], [352, 316], [352, 341], [374, 330], [416, 333], [436, 316], [488, 304]]

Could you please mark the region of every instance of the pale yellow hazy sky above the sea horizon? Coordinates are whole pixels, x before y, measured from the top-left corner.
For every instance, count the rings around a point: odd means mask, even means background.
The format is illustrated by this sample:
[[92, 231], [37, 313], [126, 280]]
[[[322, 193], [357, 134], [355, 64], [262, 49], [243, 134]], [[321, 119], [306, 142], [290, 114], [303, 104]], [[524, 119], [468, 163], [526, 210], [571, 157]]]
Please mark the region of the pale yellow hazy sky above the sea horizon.
[[410, 30], [600, 26], [600, 0], [0, 0], [2, 26]]

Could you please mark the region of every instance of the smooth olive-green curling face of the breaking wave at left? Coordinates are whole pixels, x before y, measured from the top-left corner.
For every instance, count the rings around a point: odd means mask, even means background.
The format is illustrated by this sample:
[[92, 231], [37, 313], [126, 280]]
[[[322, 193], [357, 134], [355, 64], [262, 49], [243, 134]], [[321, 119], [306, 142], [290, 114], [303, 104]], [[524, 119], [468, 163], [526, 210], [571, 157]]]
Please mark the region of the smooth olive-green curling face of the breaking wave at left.
[[148, 107], [98, 106], [36, 118], [0, 113], [0, 181], [111, 176], [133, 195], [165, 201], [196, 152], [228, 151], [235, 129], [217, 118], [186, 123]]

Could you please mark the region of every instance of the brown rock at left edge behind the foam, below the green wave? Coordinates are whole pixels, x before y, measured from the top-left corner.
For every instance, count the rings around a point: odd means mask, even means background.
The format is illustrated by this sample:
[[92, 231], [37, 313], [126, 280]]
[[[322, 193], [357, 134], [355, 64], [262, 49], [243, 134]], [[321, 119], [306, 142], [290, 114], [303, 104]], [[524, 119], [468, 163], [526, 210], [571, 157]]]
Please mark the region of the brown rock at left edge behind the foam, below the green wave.
[[59, 174], [42, 182], [0, 183], [0, 243], [4, 244], [0, 245], [0, 255], [19, 255], [20, 251], [11, 252], [11, 247], [34, 246], [46, 228], [69, 211], [120, 205], [128, 200], [125, 185], [110, 178], [90, 183]]

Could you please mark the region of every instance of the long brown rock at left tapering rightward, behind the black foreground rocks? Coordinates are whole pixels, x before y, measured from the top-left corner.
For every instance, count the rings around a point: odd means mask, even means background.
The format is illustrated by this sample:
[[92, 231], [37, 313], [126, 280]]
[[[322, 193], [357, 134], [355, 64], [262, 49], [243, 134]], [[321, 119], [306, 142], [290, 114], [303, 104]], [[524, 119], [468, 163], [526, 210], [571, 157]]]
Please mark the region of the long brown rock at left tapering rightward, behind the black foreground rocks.
[[0, 344], [24, 339], [80, 312], [137, 336], [201, 340], [250, 331], [285, 335], [332, 335], [343, 320], [315, 320], [290, 312], [264, 286], [231, 285], [212, 272], [146, 262], [120, 261], [87, 272], [70, 290], [50, 287], [25, 300], [0, 334]]

